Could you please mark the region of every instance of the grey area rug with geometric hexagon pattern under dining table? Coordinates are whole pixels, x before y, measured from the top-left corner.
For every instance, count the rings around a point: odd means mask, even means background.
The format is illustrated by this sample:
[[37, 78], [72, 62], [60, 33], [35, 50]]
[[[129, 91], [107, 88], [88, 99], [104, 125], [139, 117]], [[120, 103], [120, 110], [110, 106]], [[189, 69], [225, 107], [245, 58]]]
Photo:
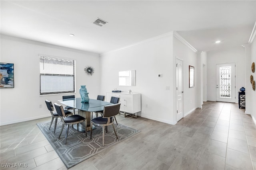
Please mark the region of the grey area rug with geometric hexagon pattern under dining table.
[[[114, 133], [112, 125], [108, 126], [108, 133], [105, 133], [104, 137], [104, 147], [102, 146], [102, 127], [97, 126], [96, 129], [92, 130], [92, 139], [90, 139], [90, 131], [87, 132], [87, 137], [85, 133], [76, 131], [72, 126], [68, 130], [68, 139], [65, 145], [65, 135], [66, 135], [66, 125], [60, 135], [62, 122], [58, 120], [56, 131], [54, 131], [54, 122], [49, 130], [50, 121], [37, 123], [39, 129], [42, 131], [46, 139], [52, 145], [62, 162], [65, 164], [66, 168], [69, 169], [76, 164], [100, 153], [110, 147], [120, 143], [121, 141], [132, 137], [140, 131], [130, 128], [125, 125], [115, 125], [116, 135]], [[76, 126], [76, 125], [74, 125]]]

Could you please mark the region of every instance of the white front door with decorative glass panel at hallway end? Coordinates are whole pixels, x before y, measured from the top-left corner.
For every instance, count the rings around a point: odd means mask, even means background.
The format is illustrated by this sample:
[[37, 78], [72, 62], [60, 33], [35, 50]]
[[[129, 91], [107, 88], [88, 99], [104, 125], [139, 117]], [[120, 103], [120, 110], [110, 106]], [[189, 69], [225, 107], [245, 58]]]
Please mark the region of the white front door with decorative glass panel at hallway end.
[[236, 102], [235, 63], [216, 64], [216, 101]]

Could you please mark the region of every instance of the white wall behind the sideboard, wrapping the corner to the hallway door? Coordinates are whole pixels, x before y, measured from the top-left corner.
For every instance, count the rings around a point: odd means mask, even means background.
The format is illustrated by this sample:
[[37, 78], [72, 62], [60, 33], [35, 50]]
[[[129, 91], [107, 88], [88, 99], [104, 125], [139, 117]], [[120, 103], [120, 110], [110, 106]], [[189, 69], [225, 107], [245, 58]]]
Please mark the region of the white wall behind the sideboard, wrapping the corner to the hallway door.
[[[174, 45], [175, 44], [175, 45]], [[173, 52], [175, 48], [175, 52]], [[189, 51], [189, 52], [188, 52]], [[190, 58], [191, 51], [178, 40], [173, 38], [172, 33], [145, 40], [130, 47], [104, 53], [101, 55], [101, 93], [111, 92], [114, 88], [127, 92], [141, 93], [141, 108], [138, 113], [142, 117], [176, 124], [176, 58], [184, 59], [184, 80], [187, 84], [186, 100], [195, 90], [188, 90], [188, 63], [196, 65], [194, 56]], [[186, 60], [186, 61], [185, 61]], [[136, 70], [136, 86], [118, 86], [118, 71]], [[158, 78], [158, 74], [162, 74]], [[170, 86], [170, 90], [166, 90]], [[193, 109], [186, 107], [186, 111]]]

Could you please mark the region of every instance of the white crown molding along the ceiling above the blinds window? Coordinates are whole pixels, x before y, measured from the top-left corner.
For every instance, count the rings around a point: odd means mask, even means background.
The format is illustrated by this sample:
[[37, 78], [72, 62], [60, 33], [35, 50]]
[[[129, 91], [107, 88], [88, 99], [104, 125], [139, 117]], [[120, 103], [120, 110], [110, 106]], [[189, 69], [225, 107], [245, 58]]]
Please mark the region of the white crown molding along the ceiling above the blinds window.
[[19, 41], [19, 42], [33, 44], [33, 45], [40, 45], [43, 47], [50, 47], [50, 48], [54, 48], [54, 49], [60, 49], [60, 50], [66, 50], [66, 51], [71, 51], [71, 52], [76, 52], [76, 53], [83, 53], [83, 54], [88, 54], [88, 55], [98, 55], [99, 56], [98, 53], [93, 53], [93, 52], [83, 51], [83, 50], [78, 50], [78, 49], [72, 49], [72, 48], [63, 47], [60, 45], [43, 43], [40, 41], [34, 41], [34, 40], [24, 39], [24, 38], [20, 38], [20, 37], [14, 37], [11, 35], [6, 35], [6, 34], [0, 34], [0, 37], [1, 37], [1, 39], [8, 39], [8, 40], [12, 40], [12, 41]]

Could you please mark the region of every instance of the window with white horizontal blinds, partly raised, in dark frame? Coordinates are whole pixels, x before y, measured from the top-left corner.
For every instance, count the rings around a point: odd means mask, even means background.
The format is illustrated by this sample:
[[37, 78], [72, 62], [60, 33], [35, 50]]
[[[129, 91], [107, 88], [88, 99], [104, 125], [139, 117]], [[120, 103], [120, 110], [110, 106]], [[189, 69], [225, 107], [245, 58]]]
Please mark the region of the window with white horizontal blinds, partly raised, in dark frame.
[[75, 61], [39, 55], [40, 95], [75, 92]]

